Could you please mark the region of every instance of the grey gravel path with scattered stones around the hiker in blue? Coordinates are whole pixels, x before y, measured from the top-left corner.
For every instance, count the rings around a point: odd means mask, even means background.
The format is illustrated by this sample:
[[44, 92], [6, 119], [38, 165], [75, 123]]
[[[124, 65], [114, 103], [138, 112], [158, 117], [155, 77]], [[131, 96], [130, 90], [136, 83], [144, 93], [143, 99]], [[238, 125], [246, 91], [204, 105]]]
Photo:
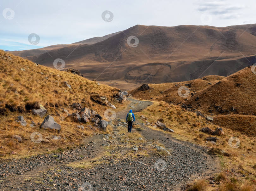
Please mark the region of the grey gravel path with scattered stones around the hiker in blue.
[[[136, 112], [152, 104], [129, 101], [112, 121], [111, 135], [94, 135], [78, 148], [57, 154], [2, 161], [0, 190], [182, 190], [192, 179], [212, 176], [218, 170], [216, 157], [202, 147], [143, 124], [136, 125], [140, 131], [133, 128], [133, 133], [127, 133], [122, 119], [129, 109]], [[157, 151], [156, 145], [170, 155]]]

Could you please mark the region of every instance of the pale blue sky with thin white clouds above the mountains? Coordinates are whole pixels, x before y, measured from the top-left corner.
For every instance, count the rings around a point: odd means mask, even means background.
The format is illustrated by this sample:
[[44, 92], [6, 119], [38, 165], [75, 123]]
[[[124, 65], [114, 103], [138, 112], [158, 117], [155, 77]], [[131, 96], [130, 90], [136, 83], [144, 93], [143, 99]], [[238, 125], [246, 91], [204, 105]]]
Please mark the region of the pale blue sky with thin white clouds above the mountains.
[[255, 0], [1, 0], [0, 49], [70, 44], [134, 25], [256, 23]]

